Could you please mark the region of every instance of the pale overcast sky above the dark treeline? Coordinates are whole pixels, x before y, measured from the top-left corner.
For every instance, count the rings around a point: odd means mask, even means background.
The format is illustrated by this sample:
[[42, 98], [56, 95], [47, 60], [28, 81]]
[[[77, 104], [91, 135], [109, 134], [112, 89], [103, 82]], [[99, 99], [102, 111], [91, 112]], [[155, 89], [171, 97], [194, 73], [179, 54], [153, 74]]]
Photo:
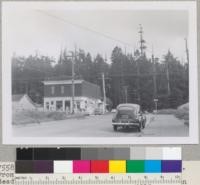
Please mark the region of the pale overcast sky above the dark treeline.
[[127, 53], [139, 47], [139, 25], [144, 30], [147, 56], [162, 58], [170, 49], [186, 61], [188, 12], [184, 10], [38, 10], [7, 11], [5, 41], [11, 53], [59, 57], [64, 48], [107, 56], [115, 46]]

